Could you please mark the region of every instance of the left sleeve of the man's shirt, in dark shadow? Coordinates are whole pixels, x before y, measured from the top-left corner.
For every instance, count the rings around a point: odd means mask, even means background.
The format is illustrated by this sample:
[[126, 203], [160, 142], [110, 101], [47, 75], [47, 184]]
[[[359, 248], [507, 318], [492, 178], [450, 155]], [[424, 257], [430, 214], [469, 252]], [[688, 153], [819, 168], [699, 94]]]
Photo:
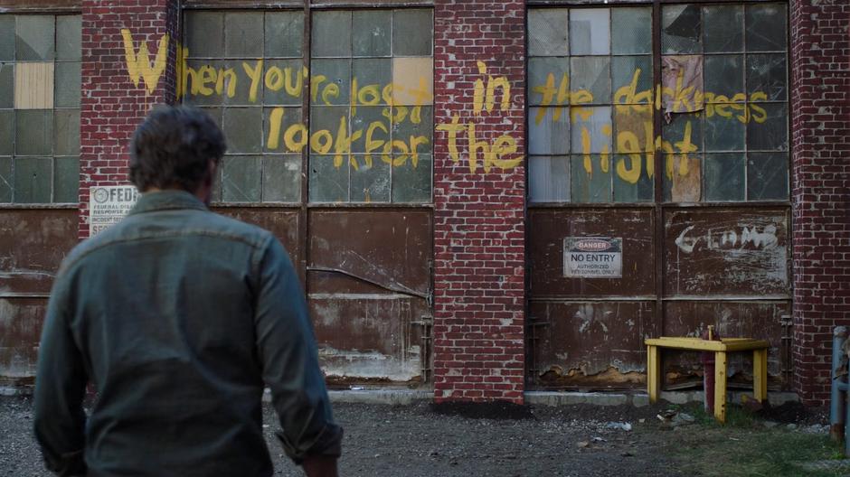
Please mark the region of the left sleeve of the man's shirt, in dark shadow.
[[86, 415], [82, 409], [88, 376], [69, 325], [67, 280], [57, 278], [47, 307], [35, 378], [35, 438], [46, 467], [59, 475], [85, 475]]

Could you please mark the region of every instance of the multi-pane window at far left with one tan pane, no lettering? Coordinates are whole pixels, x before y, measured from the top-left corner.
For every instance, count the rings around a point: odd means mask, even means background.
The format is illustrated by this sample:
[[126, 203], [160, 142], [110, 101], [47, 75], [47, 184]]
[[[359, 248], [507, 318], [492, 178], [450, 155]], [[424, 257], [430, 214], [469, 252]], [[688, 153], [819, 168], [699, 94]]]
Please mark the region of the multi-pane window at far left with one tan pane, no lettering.
[[0, 14], [0, 202], [77, 202], [80, 15]]

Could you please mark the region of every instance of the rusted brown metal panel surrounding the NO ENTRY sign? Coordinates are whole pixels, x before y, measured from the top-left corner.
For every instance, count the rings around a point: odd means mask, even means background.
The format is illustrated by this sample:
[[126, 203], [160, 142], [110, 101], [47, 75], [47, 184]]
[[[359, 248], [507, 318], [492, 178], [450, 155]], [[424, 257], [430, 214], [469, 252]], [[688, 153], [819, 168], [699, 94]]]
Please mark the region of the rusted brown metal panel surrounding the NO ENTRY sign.
[[[655, 295], [651, 209], [533, 209], [529, 223], [533, 300]], [[622, 278], [565, 277], [563, 241], [568, 237], [622, 238]]]

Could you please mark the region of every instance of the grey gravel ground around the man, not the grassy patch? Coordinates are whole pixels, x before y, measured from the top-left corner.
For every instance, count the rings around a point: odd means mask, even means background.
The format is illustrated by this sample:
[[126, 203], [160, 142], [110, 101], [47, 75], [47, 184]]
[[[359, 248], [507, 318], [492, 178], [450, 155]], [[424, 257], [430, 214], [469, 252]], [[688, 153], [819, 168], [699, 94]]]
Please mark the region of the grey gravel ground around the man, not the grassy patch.
[[[667, 408], [336, 403], [335, 416], [345, 427], [340, 471], [411, 477], [693, 475], [676, 471], [674, 456], [684, 434], [698, 440], [699, 428], [662, 425], [656, 415]], [[800, 426], [824, 424], [825, 417], [799, 406], [770, 413], [765, 416], [770, 420]], [[264, 422], [276, 475], [302, 475], [279, 451], [268, 406]], [[50, 475], [42, 468], [31, 426], [28, 398], [0, 397], [0, 475]]]

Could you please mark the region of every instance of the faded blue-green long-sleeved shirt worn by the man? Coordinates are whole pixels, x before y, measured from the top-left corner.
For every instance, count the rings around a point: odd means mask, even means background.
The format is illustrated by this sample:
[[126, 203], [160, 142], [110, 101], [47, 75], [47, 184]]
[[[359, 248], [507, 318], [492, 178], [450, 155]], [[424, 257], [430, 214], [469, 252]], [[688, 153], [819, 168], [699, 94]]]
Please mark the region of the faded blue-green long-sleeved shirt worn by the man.
[[[98, 398], [87, 418], [89, 381]], [[293, 460], [339, 455], [342, 429], [279, 241], [187, 192], [146, 193], [61, 266], [35, 435], [63, 475], [268, 476], [264, 383]]]

